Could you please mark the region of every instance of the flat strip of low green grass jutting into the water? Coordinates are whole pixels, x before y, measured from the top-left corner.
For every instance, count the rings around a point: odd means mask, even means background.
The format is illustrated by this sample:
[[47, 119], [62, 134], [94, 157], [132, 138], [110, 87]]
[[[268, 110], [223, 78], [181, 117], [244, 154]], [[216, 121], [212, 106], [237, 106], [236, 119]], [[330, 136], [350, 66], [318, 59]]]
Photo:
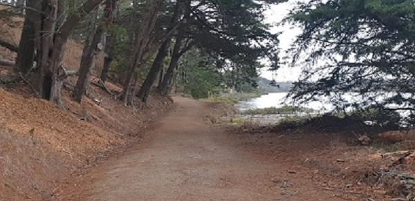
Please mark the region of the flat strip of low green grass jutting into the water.
[[270, 108], [257, 108], [243, 111], [242, 115], [278, 115], [278, 114], [295, 114], [295, 113], [313, 113], [312, 108], [305, 108], [301, 106], [282, 106]]

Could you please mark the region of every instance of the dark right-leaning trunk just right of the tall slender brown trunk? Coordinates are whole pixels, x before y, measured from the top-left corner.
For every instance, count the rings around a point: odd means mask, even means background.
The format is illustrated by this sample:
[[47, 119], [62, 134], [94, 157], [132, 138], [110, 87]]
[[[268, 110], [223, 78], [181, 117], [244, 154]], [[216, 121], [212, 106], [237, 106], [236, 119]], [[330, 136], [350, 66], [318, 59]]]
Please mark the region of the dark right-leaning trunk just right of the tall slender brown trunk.
[[154, 81], [156, 81], [157, 75], [160, 73], [160, 69], [163, 68], [163, 61], [167, 56], [167, 50], [169, 50], [170, 41], [171, 39], [167, 39], [163, 45], [161, 45], [160, 49], [158, 49], [156, 59], [153, 61], [153, 65], [150, 68], [149, 74], [147, 74], [144, 83], [140, 87], [140, 90], [138, 90], [137, 96], [142, 102], [147, 102], [151, 86], [153, 86]]

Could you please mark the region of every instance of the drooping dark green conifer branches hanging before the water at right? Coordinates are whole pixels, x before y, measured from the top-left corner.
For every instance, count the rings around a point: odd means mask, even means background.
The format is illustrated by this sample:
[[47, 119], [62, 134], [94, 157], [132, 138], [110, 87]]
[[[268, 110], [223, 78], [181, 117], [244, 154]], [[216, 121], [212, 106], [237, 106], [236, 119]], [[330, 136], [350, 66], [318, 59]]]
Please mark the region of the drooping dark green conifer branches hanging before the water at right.
[[[291, 97], [299, 102], [329, 97], [340, 111], [390, 105], [413, 111], [414, 13], [412, 0], [298, 3], [286, 19], [303, 29], [291, 51], [293, 64], [304, 66]], [[344, 99], [348, 93], [356, 97], [353, 102]]]

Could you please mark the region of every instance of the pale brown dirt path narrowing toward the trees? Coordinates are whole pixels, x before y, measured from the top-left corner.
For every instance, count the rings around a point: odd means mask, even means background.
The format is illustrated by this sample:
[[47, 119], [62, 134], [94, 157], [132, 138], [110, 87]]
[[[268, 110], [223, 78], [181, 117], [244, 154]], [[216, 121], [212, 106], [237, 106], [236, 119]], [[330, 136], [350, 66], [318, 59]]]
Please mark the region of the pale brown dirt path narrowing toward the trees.
[[204, 122], [204, 104], [180, 97], [175, 102], [178, 107], [145, 145], [100, 164], [84, 175], [92, 182], [63, 200], [341, 200], [302, 173], [238, 149]]

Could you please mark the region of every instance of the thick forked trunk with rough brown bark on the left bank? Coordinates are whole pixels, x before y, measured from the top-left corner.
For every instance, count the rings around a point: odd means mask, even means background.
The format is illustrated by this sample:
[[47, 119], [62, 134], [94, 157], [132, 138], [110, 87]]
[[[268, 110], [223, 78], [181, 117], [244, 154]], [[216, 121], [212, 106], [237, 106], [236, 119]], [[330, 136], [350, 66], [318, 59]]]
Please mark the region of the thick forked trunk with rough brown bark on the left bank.
[[33, 19], [35, 27], [36, 64], [35, 88], [39, 97], [63, 107], [62, 84], [68, 74], [62, 67], [66, 41], [73, 27], [102, 0], [86, 1], [76, 15], [66, 16], [65, 2], [60, 0], [39, 0], [34, 4], [37, 12]]

